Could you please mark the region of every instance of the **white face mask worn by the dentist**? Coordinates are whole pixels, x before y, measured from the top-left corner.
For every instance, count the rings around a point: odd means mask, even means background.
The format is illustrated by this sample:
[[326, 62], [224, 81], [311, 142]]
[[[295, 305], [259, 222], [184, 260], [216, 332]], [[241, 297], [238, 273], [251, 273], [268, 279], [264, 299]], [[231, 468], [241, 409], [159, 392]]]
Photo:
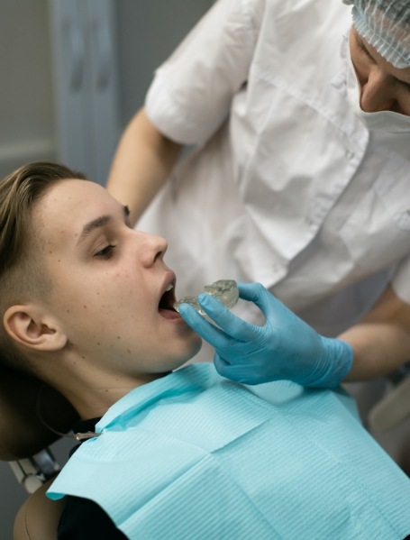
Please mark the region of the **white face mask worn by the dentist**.
[[394, 113], [392, 111], [380, 111], [379, 113], [365, 113], [360, 108], [360, 83], [356, 76], [353, 63], [351, 61], [351, 50], [349, 41], [347, 46], [347, 78], [346, 89], [351, 110], [356, 114], [360, 122], [369, 131], [379, 131], [385, 133], [410, 133], [410, 116]]

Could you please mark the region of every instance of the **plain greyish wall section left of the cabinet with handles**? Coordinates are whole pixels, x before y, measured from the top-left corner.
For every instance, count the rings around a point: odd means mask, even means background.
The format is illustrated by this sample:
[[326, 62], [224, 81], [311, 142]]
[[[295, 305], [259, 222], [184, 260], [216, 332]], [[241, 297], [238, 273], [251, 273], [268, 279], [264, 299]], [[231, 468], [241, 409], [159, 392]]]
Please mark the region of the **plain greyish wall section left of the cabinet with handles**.
[[0, 176], [54, 159], [47, 0], [0, 3]]

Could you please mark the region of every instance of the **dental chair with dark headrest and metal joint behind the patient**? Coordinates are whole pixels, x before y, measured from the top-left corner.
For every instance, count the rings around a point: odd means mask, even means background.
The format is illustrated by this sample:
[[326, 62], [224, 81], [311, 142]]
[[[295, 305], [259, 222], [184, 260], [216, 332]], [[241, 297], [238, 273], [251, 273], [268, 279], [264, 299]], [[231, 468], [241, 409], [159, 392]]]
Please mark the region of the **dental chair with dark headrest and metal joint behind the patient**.
[[14, 520], [14, 540], [56, 540], [64, 500], [45, 495], [59, 472], [50, 444], [67, 433], [77, 412], [59, 392], [40, 380], [0, 369], [0, 459], [10, 462], [17, 480], [30, 494]]

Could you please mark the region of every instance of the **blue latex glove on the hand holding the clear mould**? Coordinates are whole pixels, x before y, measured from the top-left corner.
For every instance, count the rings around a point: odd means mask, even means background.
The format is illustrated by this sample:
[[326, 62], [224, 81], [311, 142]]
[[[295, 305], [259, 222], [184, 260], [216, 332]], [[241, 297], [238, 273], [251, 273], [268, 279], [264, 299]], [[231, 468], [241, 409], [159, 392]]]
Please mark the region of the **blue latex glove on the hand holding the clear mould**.
[[214, 364], [223, 377], [245, 384], [285, 379], [333, 388], [351, 370], [349, 343], [317, 334], [259, 283], [239, 283], [238, 289], [242, 299], [254, 302], [263, 312], [263, 326], [234, 316], [205, 293], [198, 296], [199, 304], [219, 327], [193, 307], [179, 307], [187, 324], [214, 347]]

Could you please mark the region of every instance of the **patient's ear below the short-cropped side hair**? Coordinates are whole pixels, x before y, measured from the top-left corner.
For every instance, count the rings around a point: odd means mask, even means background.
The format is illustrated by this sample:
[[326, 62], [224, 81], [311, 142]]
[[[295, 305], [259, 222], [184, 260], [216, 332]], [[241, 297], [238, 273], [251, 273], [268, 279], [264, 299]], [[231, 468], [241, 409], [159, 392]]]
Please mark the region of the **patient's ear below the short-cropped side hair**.
[[59, 351], [68, 342], [58, 322], [35, 305], [9, 307], [3, 322], [14, 341], [31, 349]]

